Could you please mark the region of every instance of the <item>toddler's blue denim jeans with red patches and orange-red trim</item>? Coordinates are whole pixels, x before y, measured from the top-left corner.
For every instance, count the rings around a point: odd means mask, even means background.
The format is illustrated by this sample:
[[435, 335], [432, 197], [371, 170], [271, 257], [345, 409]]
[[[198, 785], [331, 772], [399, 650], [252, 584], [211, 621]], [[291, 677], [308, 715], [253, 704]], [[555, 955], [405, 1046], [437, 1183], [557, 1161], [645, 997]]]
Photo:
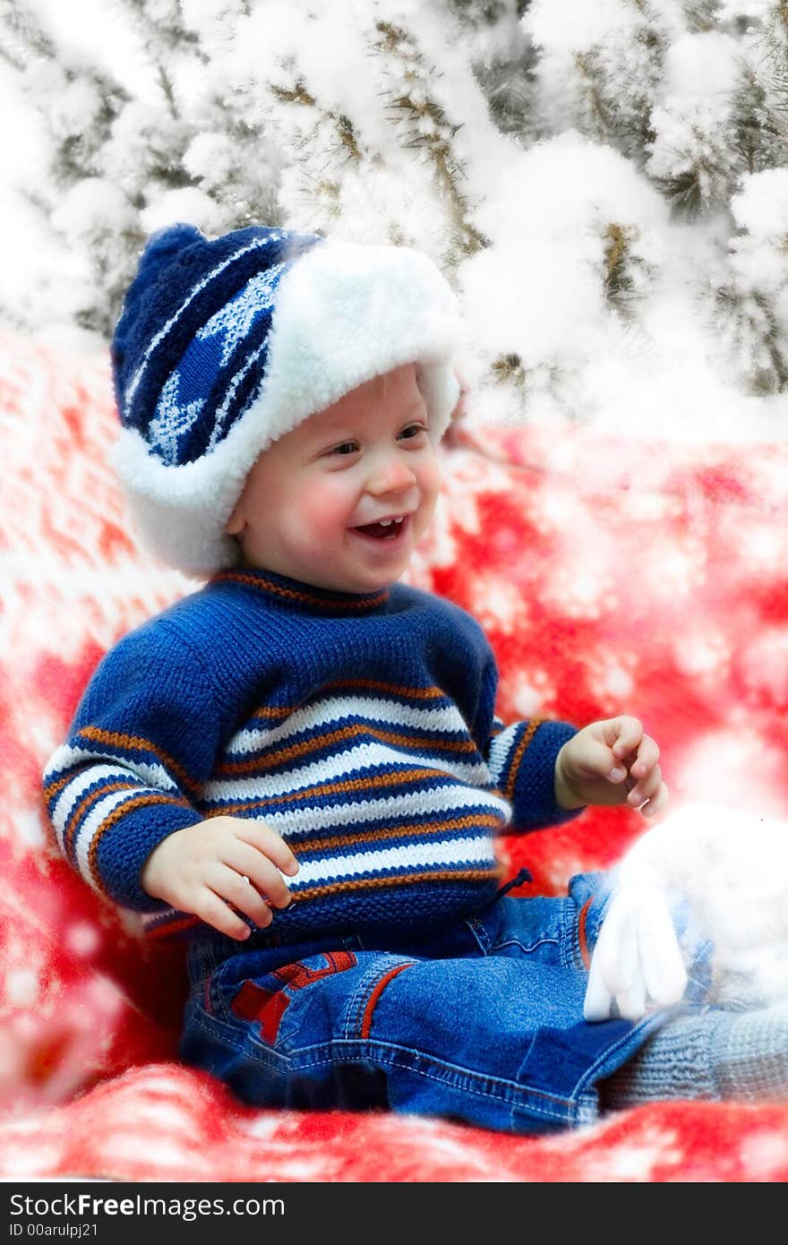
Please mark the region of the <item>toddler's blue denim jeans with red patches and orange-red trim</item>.
[[578, 874], [565, 898], [499, 893], [390, 945], [204, 937], [182, 1057], [260, 1107], [387, 1107], [514, 1133], [591, 1123], [596, 1083], [672, 1013], [584, 1021], [604, 878]]

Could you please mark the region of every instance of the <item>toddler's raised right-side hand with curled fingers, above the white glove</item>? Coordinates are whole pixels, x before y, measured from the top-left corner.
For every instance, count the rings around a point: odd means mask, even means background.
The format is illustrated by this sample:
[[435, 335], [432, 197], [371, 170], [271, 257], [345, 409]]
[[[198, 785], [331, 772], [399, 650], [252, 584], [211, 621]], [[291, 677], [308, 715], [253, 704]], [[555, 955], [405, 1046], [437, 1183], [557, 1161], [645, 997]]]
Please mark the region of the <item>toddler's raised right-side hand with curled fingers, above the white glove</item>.
[[636, 717], [591, 722], [555, 758], [555, 798], [561, 808], [630, 804], [654, 817], [668, 799], [660, 749]]

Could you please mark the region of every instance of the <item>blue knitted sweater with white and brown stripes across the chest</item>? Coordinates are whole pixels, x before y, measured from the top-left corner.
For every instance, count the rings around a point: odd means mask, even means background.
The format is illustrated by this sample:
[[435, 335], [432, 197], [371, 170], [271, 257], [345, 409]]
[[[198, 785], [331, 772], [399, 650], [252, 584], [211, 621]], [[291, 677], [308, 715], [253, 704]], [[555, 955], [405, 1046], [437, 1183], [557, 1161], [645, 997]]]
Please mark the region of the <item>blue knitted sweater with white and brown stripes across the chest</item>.
[[217, 575], [102, 661], [45, 773], [61, 849], [153, 930], [200, 928], [139, 886], [173, 830], [264, 818], [299, 858], [286, 936], [443, 924], [500, 878], [493, 837], [565, 820], [563, 722], [503, 727], [478, 624], [401, 584], [329, 593]]

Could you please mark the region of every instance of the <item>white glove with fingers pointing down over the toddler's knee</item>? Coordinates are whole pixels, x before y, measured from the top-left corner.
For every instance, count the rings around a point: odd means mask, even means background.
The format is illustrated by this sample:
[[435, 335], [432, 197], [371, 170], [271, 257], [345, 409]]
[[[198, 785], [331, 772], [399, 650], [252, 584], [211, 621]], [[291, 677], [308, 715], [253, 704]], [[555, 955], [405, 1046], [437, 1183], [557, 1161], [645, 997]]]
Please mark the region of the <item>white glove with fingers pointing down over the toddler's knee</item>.
[[678, 1002], [687, 971], [667, 895], [656, 880], [621, 878], [591, 956], [583, 1015], [641, 1020]]

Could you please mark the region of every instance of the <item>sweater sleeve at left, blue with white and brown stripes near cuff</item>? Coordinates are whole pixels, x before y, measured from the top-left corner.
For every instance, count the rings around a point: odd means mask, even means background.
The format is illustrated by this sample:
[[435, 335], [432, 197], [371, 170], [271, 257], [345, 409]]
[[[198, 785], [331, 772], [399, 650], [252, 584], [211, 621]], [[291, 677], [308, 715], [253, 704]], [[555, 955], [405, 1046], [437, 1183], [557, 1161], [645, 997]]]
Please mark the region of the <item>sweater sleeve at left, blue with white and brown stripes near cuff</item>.
[[95, 890], [137, 911], [162, 906], [139, 874], [162, 839], [202, 819], [218, 738], [210, 682], [162, 619], [106, 655], [44, 774], [57, 843]]

